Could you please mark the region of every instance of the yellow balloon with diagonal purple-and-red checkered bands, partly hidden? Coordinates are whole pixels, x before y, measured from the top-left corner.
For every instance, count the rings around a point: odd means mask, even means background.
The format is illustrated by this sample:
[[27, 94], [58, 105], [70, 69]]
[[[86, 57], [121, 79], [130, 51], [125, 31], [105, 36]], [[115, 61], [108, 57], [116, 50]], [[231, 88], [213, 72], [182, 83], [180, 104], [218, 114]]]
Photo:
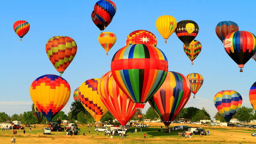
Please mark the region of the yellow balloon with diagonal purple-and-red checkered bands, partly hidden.
[[79, 87], [79, 100], [96, 122], [99, 122], [102, 116], [108, 112], [97, 90], [99, 80], [99, 78], [87, 80]]

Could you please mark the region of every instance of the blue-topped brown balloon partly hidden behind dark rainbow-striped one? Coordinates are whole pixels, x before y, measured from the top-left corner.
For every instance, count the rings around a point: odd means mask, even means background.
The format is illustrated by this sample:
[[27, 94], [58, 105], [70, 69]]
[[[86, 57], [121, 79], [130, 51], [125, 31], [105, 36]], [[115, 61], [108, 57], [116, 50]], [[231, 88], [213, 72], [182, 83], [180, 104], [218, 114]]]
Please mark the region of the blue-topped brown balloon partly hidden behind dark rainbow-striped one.
[[233, 21], [221, 21], [217, 24], [215, 28], [215, 32], [222, 42], [224, 42], [228, 34], [238, 30], [238, 25]]

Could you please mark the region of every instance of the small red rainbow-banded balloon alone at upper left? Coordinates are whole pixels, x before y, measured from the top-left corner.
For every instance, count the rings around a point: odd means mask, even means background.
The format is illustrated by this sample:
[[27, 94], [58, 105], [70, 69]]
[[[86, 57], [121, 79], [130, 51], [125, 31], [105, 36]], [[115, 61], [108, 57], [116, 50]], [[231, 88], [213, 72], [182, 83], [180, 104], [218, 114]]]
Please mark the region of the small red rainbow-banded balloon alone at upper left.
[[29, 31], [29, 23], [25, 20], [18, 20], [13, 24], [13, 29], [16, 32], [16, 34], [20, 37], [20, 41], [22, 41], [21, 38], [24, 37]]

